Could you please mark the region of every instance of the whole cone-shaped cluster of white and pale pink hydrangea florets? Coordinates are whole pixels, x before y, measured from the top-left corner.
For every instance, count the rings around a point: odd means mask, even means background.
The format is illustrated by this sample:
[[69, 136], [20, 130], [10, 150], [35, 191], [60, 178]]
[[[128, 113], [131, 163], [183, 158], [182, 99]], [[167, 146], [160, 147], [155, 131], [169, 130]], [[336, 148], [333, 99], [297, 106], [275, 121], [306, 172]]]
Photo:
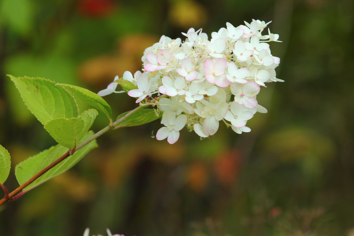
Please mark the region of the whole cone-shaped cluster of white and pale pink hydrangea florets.
[[[145, 49], [143, 72], [126, 71], [123, 79], [137, 86], [128, 92], [137, 98], [136, 103], [166, 94], [155, 102], [164, 112], [158, 140], [175, 143], [183, 127], [205, 138], [217, 132], [221, 120], [236, 133], [251, 131], [247, 120], [256, 112], [267, 112], [256, 99], [261, 87], [266, 87], [265, 82], [283, 81], [274, 70], [280, 58], [272, 56], [267, 43], [280, 42], [279, 35], [269, 28], [262, 35], [269, 23], [253, 20], [237, 27], [226, 23], [210, 40], [201, 29], [190, 28], [182, 33], [184, 42], [163, 35]], [[100, 93], [115, 92], [115, 87], [111, 84]]]

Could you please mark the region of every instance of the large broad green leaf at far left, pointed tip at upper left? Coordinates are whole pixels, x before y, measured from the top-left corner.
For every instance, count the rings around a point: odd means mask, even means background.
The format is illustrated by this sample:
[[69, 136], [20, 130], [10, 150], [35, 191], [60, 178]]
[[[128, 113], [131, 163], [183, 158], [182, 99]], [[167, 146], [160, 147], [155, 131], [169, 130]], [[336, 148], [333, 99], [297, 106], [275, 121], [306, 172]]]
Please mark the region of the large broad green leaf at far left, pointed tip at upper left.
[[45, 125], [56, 118], [72, 118], [79, 114], [72, 94], [55, 82], [43, 78], [10, 76], [33, 115]]

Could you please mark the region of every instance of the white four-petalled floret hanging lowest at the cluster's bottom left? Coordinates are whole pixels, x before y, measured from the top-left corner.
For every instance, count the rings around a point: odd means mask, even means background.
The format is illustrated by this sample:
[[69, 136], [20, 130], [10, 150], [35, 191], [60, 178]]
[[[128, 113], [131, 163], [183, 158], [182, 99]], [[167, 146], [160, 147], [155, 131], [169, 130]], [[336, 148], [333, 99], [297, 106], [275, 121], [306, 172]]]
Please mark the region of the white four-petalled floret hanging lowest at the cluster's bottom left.
[[187, 116], [182, 114], [177, 116], [176, 113], [171, 111], [165, 111], [162, 115], [161, 124], [166, 127], [162, 127], [156, 133], [157, 140], [163, 140], [167, 138], [167, 142], [170, 144], [176, 143], [179, 138], [179, 131], [187, 123]]

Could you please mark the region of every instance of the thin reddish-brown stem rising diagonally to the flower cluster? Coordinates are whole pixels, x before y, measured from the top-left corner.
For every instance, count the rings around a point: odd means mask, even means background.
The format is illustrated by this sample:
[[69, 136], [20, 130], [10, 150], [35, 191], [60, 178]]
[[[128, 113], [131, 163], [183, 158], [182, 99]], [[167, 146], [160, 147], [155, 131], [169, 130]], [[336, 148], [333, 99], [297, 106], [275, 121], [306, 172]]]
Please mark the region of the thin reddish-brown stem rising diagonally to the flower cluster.
[[[157, 98], [155, 98], [155, 101], [160, 100], [160, 98], [166, 97], [166, 95], [161, 95]], [[101, 129], [100, 131], [98, 131], [97, 133], [93, 134], [93, 136], [91, 136], [89, 139], [85, 140], [84, 142], [82, 142], [80, 145], [76, 146], [75, 151], [79, 150], [80, 148], [82, 148], [83, 146], [89, 144], [92, 140], [98, 138], [99, 136], [101, 136], [102, 134], [106, 133], [107, 131], [109, 131], [110, 129], [116, 129], [118, 127], [118, 125], [125, 121], [127, 118], [129, 118], [131, 115], [137, 113], [139, 110], [142, 110], [144, 108], [147, 108], [148, 106], [150, 106], [150, 103], [147, 104], [143, 104], [133, 110], [131, 110], [129, 113], [127, 113], [126, 115], [124, 115], [123, 117], [121, 117], [119, 120], [115, 121], [112, 125], [108, 125], [107, 127], [104, 127], [103, 129]], [[29, 184], [33, 183], [36, 179], [38, 179], [39, 177], [41, 177], [41, 175], [43, 175], [44, 173], [46, 173], [47, 171], [49, 171], [51, 168], [55, 167], [58, 163], [62, 162], [63, 160], [65, 160], [68, 156], [70, 156], [70, 152], [67, 151], [65, 152], [65, 154], [63, 154], [61, 157], [59, 157], [57, 160], [55, 160], [54, 162], [52, 162], [50, 165], [48, 165], [47, 167], [45, 167], [44, 169], [42, 169], [40, 172], [38, 172], [37, 174], [35, 174], [32, 178], [30, 178], [29, 180], [27, 180], [25, 183], [23, 183], [22, 185], [20, 185], [17, 189], [13, 190], [12, 192], [10, 192], [10, 194], [7, 194], [7, 190], [5, 188], [4, 185], [0, 184], [1, 188], [4, 189], [5, 191], [5, 197], [3, 197], [0, 200], [0, 206], [2, 204], [4, 204], [7, 201], [11, 201], [11, 200], [16, 200], [18, 197], [22, 196], [25, 192], [27, 191], [22, 191], [24, 188], [26, 188]], [[17, 196], [18, 195], [18, 196]]]

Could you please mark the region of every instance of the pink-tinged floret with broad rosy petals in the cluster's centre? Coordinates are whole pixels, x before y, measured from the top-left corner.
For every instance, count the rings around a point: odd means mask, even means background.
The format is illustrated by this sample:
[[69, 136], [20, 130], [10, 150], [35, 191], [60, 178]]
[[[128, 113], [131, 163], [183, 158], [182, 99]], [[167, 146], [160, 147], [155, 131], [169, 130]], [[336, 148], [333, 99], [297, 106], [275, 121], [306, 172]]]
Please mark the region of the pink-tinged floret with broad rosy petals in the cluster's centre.
[[212, 59], [206, 59], [204, 61], [204, 72], [206, 80], [212, 84], [216, 84], [219, 87], [227, 87], [230, 85], [230, 81], [226, 79], [224, 71], [227, 67], [227, 62], [224, 58], [219, 58], [215, 62]]

